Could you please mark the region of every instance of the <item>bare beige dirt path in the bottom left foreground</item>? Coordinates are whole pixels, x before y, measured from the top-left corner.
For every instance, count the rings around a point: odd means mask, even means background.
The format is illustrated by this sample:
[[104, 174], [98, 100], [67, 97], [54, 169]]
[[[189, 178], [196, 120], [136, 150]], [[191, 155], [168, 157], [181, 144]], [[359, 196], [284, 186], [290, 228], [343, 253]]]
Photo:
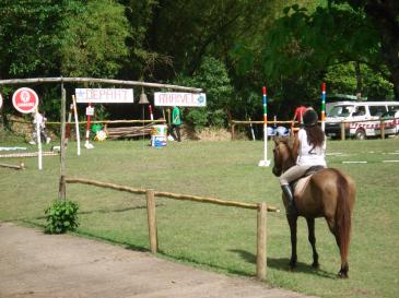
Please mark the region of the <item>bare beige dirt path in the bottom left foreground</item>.
[[0, 223], [0, 297], [306, 297], [96, 240]]

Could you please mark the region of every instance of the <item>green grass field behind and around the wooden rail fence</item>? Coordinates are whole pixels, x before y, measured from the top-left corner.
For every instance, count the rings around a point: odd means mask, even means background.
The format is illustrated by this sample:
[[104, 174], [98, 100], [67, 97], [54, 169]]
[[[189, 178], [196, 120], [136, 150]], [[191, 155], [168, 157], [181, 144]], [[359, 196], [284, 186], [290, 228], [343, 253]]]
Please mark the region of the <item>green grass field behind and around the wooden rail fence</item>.
[[[134, 188], [280, 206], [271, 168], [258, 167], [262, 142], [181, 142], [152, 148], [148, 141], [106, 141], [94, 150], [67, 152], [67, 175]], [[0, 146], [28, 146], [3, 140]], [[269, 143], [271, 153], [271, 142]], [[46, 147], [48, 148], [48, 147]], [[4, 152], [0, 152], [4, 154]], [[298, 220], [298, 267], [289, 271], [290, 234], [284, 212], [268, 214], [268, 281], [272, 286], [320, 297], [399, 297], [399, 139], [329, 141], [328, 164], [357, 184], [350, 251], [350, 278], [338, 279], [340, 258], [324, 219], [316, 220], [321, 267], [310, 267], [306, 223]], [[367, 160], [367, 164], [342, 164]], [[19, 159], [1, 158], [16, 164]], [[26, 170], [0, 168], [0, 220], [44, 225], [44, 210], [57, 198], [59, 158], [24, 158]], [[80, 204], [78, 234], [149, 250], [144, 195], [68, 184]], [[227, 274], [255, 275], [256, 212], [156, 199], [160, 257]]]

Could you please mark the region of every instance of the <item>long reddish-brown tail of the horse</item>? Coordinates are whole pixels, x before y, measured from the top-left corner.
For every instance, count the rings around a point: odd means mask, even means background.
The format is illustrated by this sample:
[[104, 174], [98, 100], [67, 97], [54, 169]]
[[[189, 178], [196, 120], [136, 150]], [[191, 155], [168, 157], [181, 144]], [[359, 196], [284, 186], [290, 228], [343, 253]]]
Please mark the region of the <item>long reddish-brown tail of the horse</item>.
[[347, 262], [349, 245], [351, 240], [352, 204], [354, 200], [354, 188], [341, 171], [332, 169], [337, 174], [337, 210], [336, 210], [336, 237], [340, 247], [341, 261]]

